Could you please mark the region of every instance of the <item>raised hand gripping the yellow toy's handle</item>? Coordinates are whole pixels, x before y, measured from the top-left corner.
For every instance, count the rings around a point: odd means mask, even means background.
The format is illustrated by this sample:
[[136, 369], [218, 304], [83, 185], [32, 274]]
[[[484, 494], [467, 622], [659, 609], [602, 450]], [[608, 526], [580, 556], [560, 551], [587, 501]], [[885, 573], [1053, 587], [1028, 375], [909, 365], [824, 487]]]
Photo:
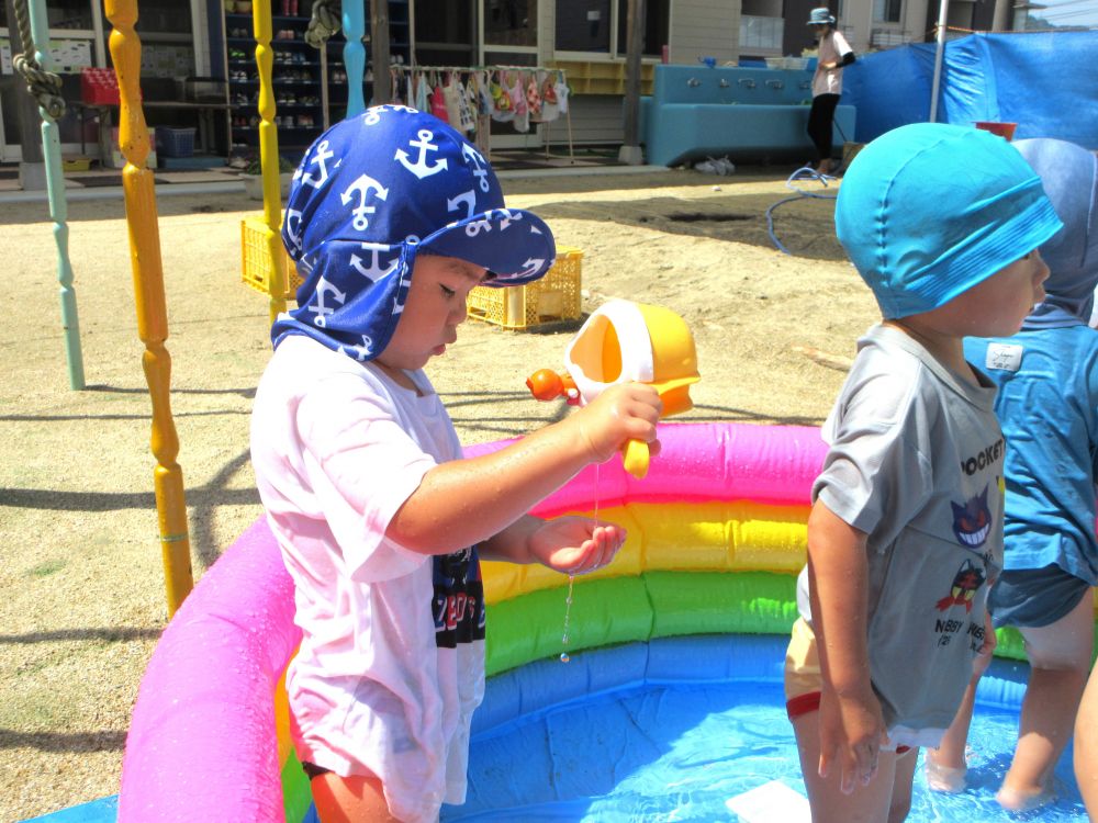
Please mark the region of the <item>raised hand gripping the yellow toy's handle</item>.
[[648, 443], [658, 454], [656, 422], [663, 403], [659, 393], [645, 383], [619, 383], [610, 386], [571, 418], [586, 441], [592, 462], [605, 463], [627, 440]]

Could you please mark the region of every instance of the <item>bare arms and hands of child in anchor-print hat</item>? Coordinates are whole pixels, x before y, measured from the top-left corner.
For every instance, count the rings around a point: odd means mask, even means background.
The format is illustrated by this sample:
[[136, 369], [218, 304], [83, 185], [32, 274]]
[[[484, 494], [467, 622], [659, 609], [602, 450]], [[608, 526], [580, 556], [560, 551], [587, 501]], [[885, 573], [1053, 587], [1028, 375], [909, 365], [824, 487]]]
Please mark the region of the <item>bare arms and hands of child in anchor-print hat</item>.
[[589, 463], [613, 458], [627, 440], [650, 443], [652, 453], [658, 453], [660, 408], [659, 394], [649, 385], [612, 386], [589, 406], [505, 449], [434, 466], [393, 516], [385, 533], [412, 551], [447, 554], [515, 527], [514, 533], [486, 546], [489, 554], [519, 562], [550, 560], [548, 564], [561, 571], [569, 571], [570, 565], [590, 571], [607, 544], [616, 543], [610, 556], [617, 551], [624, 540], [620, 529], [607, 527], [596, 537], [593, 522], [581, 518], [592, 522], [584, 527], [585, 540], [597, 544], [584, 548], [584, 541], [572, 542], [576, 553], [558, 557], [554, 565], [550, 555], [564, 545], [558, 532], [550, 531], [531, 544], [528, 530], [540, 533], [545, 528], [534, 529], [519, 519]]

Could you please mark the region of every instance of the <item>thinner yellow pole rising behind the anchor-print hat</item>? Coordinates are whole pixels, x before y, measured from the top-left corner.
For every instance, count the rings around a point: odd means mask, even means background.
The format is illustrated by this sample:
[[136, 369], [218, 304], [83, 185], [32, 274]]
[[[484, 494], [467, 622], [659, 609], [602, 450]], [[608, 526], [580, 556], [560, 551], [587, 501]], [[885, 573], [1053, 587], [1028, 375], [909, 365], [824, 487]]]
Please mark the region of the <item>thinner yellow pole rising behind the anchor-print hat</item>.
[[278, 132], [274, 127], [274, 89], [271, 83], [271, 4], [259, 0], [251, 4], [251, 23], [256, 33], [256, 68], [259, 70], [259, 161], [264, 176], [264, 241], [271, 261], [270, 320], [285, 311], [285, 255], [279, 237], [282, 214], [282, 192], [279, 184]]

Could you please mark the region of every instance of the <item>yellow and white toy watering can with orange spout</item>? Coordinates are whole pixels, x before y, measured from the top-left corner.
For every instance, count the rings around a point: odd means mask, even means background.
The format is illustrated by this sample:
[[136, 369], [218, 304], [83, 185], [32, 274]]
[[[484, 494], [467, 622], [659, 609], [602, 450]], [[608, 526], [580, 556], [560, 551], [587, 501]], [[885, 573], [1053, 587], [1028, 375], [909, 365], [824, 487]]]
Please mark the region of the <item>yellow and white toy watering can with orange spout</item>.
[[[573, 406], [585, 406], [615, 383], [637, 382], [660, 393], [661, 417], [694, 407], [690, 386], [699, 380], [694, 337], [669, 308], [627, 300], [604, 303], [569, 342], [564, 363], [562, 374], [541, 369], [527, 379], [535, 397], [563, 396]], [[629, 474], [648, 474], [648, 443], [630, 440], [621, 451]]]

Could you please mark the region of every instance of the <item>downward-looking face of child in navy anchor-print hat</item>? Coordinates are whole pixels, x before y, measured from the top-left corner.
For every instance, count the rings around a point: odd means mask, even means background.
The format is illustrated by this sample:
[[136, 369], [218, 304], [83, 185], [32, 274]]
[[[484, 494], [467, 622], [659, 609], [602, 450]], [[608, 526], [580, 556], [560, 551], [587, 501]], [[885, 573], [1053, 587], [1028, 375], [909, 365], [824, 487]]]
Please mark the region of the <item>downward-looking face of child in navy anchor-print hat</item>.
[[458, 339], [466, 297], [486, 271], [456, 257], [419, 255], [396, 330], [377, 360], [391, 369], [422, 369]]

